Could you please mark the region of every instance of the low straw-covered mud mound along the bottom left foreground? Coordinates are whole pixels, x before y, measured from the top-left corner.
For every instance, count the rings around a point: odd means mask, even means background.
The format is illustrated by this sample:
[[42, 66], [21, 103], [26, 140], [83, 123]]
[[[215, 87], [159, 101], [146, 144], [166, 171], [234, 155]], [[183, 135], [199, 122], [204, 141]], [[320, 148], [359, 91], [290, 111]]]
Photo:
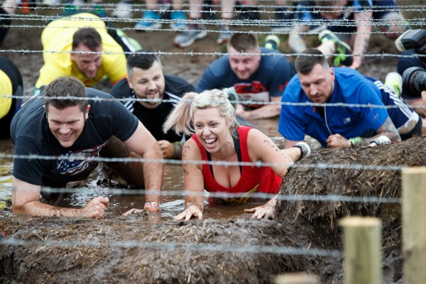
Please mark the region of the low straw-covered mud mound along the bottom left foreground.
[[33, 218], [8, 238], [26, 245], [0, 245], [0, 281], [271, 283], [273, 275], [301, 266], [299, 256], [256, 249], [297, 246], [297, 236], [273, 221], [150, 225], [145, 218]]

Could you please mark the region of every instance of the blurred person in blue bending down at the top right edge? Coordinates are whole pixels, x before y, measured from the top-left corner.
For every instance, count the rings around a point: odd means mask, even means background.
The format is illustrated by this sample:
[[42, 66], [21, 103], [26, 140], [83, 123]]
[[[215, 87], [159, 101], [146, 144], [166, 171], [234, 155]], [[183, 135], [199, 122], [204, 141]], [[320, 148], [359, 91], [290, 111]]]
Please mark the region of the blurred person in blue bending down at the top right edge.
[[[314, 9], [313, 6], [318, 7]], [[290, 33], [290, 48], [296, 53], [302, 52], [307, 46], [300, 33], [325, 29], [319, 35], [321, 45], [317, 48], [324, 55], [337, 54], [333, 60], [336, 66], [345, 65], [354, 69], [361, 66], [374, 21], [379, 21], [382, 31], [390, 38], [398, 36], [394, 32], [403, 32], [408, 28], [402, 24], [404, 17], [399, 13], [395, 1], [391, 0], [300, 1], [297, 7], [297, 18], [302, 24], [295, 26]]]

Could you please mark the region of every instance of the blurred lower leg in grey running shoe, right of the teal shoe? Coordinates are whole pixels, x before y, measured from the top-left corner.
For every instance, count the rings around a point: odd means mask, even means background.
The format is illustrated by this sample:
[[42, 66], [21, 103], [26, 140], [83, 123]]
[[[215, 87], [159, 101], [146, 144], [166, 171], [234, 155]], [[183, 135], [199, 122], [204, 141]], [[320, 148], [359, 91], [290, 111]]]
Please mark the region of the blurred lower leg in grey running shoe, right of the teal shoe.
[[207, 36], [206, 27], [204, 24], [197, 23], [196, 20], [202, 20], [203, 0], [190, 0], [190, 21], [187, 25], [187, 31], [176, 35], [173, 40], [173, 45], [177, 48], [186, 48], [192, 45], [195, 40], [200, 40]]

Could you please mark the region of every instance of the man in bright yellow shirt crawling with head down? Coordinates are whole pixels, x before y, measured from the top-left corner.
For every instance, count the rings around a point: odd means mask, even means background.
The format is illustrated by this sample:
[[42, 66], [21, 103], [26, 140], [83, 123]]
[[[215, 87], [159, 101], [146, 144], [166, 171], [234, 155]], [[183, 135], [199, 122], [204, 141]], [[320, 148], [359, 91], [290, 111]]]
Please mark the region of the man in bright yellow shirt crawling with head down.
[[61, 76], [75, 76], [86, 87], [107, 78], [116, 84], [126, 77], [124, 52], [141, 45], [93, 13], [75, 13], [48, 23], [41, 33], [44, 64], [34, 94]]

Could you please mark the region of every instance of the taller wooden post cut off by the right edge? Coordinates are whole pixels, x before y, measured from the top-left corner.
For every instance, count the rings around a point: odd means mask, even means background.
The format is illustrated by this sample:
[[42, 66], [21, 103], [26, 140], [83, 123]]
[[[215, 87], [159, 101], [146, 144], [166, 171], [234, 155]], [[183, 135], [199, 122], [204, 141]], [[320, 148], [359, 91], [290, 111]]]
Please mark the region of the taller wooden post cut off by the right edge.
[[426, 167], [402, 171], [404, 283], [426, 283]]

